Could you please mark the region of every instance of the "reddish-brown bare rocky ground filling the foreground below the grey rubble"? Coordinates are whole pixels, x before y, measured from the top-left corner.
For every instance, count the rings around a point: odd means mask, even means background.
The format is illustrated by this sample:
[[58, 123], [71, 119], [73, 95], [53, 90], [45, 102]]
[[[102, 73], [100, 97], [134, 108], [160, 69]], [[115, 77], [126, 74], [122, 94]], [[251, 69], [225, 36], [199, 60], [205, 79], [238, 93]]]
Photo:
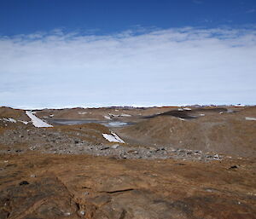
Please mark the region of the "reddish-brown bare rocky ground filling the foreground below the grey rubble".
[[[249, 160], [205, 164], [27, 153], [1, 155], [0, 165], [0, 218], [256, 215], [256, 166]], [[29, 184], [20, 185], [24, 181]]]

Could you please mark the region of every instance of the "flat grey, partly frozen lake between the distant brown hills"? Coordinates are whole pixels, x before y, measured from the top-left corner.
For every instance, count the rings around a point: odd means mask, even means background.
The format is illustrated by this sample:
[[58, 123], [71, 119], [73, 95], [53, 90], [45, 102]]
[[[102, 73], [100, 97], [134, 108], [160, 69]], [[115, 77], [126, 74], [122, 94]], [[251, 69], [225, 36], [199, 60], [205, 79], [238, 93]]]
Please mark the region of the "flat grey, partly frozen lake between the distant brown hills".
[[73, 125], [73, 124], [103, 124], [107, 127], [123, 127], [126, 125], [131, 125], [133, 123], [125, 123], [119, 121], [99, 121], [99, 120], [84, 120], [84, 119], [47, 119], [50, 124], [63, 124], [63, 125]]

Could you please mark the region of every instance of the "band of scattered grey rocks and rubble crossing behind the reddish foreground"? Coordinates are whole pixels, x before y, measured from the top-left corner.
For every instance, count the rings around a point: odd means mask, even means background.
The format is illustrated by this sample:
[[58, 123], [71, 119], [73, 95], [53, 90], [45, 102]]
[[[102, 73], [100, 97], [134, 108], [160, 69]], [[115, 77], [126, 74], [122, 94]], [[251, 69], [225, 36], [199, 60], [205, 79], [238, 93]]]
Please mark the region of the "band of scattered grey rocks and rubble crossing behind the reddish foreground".
[[0, 150], [0, 153], [25, 153], [27, 151], [56, 154], [85, 153], [95, 156], [109, 156], [111, 158], [176, 158], [202, 162], [223, 158], [218, 154], [182, 148], [175, 149], [173, 147], [130, 147], [120, 143], [91, 144], [59, 131], [37, 128], [27, 129], [24, 127], [3, 132], [0, 144], [5, 146]]

